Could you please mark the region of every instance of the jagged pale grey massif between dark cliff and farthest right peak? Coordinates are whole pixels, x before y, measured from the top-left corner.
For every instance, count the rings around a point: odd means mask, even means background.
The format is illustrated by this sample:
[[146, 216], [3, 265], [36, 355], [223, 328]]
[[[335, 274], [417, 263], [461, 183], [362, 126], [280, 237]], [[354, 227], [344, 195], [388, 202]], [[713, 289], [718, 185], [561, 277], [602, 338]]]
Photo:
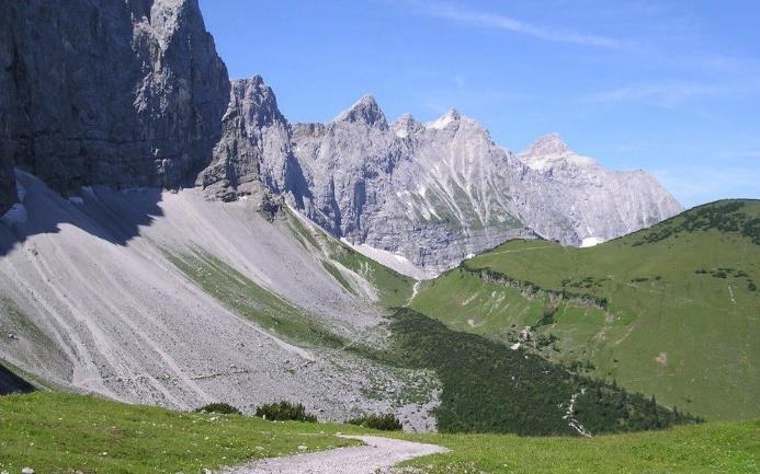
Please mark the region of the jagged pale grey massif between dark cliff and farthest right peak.
[[365, 96], [330, 124], [295, 125], [293, 151], [310, 219], [428, 270], [531, 233], [504, 186], [519, 162], [455, 111], [434, 124], [404, 116], [388, 125]]

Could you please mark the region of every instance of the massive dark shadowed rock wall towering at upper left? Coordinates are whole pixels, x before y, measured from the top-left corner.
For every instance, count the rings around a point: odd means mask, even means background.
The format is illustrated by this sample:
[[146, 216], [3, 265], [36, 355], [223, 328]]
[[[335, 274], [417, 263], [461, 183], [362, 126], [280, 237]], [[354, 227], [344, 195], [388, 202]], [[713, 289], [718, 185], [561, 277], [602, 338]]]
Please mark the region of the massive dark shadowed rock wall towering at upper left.
[[0, 213], [14, 165], [57, 190], [192, 183], [228, 97], [196, 0], [0, 1]]

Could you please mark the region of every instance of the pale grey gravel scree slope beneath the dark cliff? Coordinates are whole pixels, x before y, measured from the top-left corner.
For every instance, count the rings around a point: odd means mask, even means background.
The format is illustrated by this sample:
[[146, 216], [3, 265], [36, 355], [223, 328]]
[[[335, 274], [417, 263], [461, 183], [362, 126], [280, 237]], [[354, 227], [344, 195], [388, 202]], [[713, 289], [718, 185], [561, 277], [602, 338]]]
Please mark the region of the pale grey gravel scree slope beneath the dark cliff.
[[[390, 406], [418, 373], [288, 344], [166, 257], [165, 250], [201, 250], [336, 332], [372, 334], [381, 311], [344, 290], [324, 256], [253, 203], [104, 187], [66, 199], [26, 173], [19, 183], [25, 219], [0, 222], [0, 360], [75, 391], [179, 409], [226, 402], [251, 413], [291, 400], [320, 419], [421, 411]], [[393, 388], [386, 400], [366, 396], [385, 388]]]

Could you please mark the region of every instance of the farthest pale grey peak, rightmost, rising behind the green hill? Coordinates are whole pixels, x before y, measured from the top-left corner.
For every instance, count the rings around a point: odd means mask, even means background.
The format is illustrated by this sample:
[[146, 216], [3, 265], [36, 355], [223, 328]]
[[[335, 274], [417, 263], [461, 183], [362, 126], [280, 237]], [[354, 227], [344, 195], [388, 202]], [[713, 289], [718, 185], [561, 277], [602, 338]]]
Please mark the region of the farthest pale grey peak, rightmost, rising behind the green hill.
[[529, 167], [520, 216], [549, 240], [593, 245], [683, 210], [650, 174], [606, 170], [557, 134], [538, 138], [518, 159]]

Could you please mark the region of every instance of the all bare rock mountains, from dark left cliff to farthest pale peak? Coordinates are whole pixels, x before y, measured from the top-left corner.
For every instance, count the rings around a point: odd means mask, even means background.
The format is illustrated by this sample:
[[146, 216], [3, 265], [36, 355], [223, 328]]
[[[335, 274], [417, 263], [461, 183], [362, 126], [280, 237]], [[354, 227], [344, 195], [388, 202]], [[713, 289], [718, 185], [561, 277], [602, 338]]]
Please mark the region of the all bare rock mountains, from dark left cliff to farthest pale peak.
[[2, 9], [0, 213], [19, 201], [13, 167], [64, 194], [282, 196], [358, 250], [431, 276], [509, 238], [590, 244], [682, 210], [643, 171], [606, 171], [556, 135], [514, 154], [455, 109], [388, 124], [367, 95], [329, 124], [291, 124], [260, 77], [227, 80], [195, 1]]

